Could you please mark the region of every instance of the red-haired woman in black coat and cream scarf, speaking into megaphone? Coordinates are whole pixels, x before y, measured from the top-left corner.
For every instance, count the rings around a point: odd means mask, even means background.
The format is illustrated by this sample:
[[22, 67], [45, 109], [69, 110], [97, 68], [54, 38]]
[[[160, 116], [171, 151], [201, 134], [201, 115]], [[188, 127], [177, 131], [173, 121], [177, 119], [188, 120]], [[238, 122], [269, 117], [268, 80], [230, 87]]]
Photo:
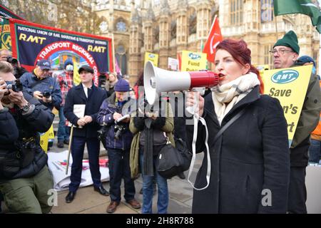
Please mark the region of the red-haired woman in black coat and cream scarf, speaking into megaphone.
[[[211, 172], [207, 173], [205, 156], [195, 187], [205, 187], [208, 175], [210, 182], [204, 190], [194, 190], [193, 213], [287, 211], [287, 123], [280, 102], [262, 95], [263, 83], [251, 65], [250, 54], [245, 41], [225, 39], [219, 43], [214, 71], [220, 83], [205, 99], [198, 95], [197, 113], [205, 119], [208, 135], [206, 128], [198, 125], [195, 147], [196, 152], [207, 152], [208, 143]], [[186, 105], [194, 105], [194, 93], [188, 94]], [[220, 134], [222, 129], [225, 131]], [[186, 130], [192, 147], [193, 125]]]

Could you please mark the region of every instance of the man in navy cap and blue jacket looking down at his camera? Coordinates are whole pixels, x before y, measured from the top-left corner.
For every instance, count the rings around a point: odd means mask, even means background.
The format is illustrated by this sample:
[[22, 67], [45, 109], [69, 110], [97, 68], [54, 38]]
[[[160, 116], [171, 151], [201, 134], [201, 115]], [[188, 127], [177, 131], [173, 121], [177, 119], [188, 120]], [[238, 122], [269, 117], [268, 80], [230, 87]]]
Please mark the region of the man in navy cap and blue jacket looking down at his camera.
[[41, 59], [36, 63], [32, 73], [24, 73], [20, 81], [27, 93], [38, 99], [40, 103], [50, 108], [59, 109], [61, 103], [61, 90], [55, 78], [49, 75], [50, 62]]

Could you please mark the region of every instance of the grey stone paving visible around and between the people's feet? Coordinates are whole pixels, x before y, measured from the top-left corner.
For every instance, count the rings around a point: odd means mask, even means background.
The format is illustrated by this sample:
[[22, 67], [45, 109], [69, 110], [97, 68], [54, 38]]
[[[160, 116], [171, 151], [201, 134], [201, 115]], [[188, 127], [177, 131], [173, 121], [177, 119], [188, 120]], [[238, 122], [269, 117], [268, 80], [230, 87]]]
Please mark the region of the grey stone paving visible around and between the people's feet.
[[[56, 147], [56, 142], [51, 151], [62, 151], [66, 150], [66, 147], [59, 149]], [[101, 150], [101, 156], [106, 155], [106, 150]], [[85, 156], [86, 157], [86, 154]], [[200, 159], [195, 162], [195, 169], [200, 167]], [[193, 172], [195, 173], [195, 172]], [[188, 172], [185, 172], [185, 176], [188, 176]], [[109, 190], [109, 182], [104, 182], [103, 186], [106, 190]], [[136, 186], [136, 199], [138, 202], [143, 202], [143, 195], [139, 194], [142, 187], [142, 179], [139, 177], [135, 180]], [[123, 184], [121, 187], [123, 196]], [[169, 190], [169, 206], [168, 213], [170, 214], [190, 214], [193, 188], [188, 183], [187, 178], [181, 180], [179, 177], [173, 177], [168, 180]], [[106, 208], [110, 202], [110, 197], [104, 197], [98, 192], [93, 191], [93, 186], [82, 187], [77, 191], [76, 197], [70, 204], [66, 204], [65, 197], [68, 191], [58, 192], [58, 206], [52, 209], [54, 214], [65, 214], [65, 213], [78, 213], [78, 214], [101, 214], [106, 213]], [[153, 197], [153, 212], [157, 213], [157, 193]], [[133, 209], [129, 204], [122, 199], [121, 204], [118, 206], [116, 214], [135, 214], [141, 213], [141, 209]]]

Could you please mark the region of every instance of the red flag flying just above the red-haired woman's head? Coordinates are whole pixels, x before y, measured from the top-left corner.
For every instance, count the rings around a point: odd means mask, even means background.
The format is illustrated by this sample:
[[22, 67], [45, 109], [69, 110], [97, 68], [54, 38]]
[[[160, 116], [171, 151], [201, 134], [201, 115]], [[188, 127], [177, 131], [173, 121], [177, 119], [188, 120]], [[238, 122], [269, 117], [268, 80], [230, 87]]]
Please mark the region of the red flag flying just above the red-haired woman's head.
[[223, 41], [222, 33], [220, 33], [220, 25], [218, 24], [218, 18], [215, 16], [210, 33], [208, 34], [208, 40], [205, 43], [203, 53], [208, 54], [208, 61], [214, 63], [215, 49], [218, 43]]

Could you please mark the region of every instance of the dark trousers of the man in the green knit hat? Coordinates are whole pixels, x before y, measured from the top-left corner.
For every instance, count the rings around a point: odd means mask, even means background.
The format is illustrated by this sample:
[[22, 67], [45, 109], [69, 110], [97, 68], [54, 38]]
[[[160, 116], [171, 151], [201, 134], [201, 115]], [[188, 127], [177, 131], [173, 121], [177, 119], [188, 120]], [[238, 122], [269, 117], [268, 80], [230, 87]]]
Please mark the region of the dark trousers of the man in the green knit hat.
[[289, 199], [287, 202], [287, 212], [294, 214], [307, 214], [307, 189], [305, 187], [305, 168], [291, 167]]

